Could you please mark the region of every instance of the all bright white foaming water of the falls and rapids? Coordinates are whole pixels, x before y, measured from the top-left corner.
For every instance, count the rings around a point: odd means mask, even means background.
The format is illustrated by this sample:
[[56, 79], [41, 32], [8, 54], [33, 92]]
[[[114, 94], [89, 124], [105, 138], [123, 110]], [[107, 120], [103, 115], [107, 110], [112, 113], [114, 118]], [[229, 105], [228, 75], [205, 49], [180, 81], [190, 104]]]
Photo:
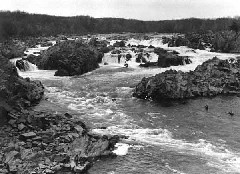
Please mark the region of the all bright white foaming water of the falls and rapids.
[[[135, 62], [136, 56], [131, 51], [126, 51], [132, 55], [131, 61], [128, 62], [130, 68], [134, 68], [134, 71], [127, 72], [117, 72], [109, 76], [92, 76], [91, 73], [85, 75], [86, 77], [92, 78], [101, 78], [102, 81], [108, 80], [109, 78], [117, 81], [118, 79], [128, 77], [131, 75], [140, 75], [148, 74], [155, 75], [160, 72], [164, 72], [168, 69], [181, 70], [184, 72], [194, 70], [198, 65], [202, 64], [204, 61], [211, 59], [214, 56], [217, 56], [220, 59], [235, 58], [234, 54], [222, 54], [222, 53], [211, 53], [206, 50], [192, 50], [187, 47], [167, 47], [163, 45], [161, 39], [150, 39], [150, 40], [134, 40], [131, 39], [127, 42], [132, 45], [153, 45], [155, 47], [162, 47], [169, 50], [176, 50], [180, 55], [190, 56], [192, 64], [184, 66], [172, 66], [169, 68], [139, 68], [139, 63]], [[156, 60], [156, 56], [151, 54], [152, 61]], [[14, 62], [16, 60], [12, 60]], [[103, 62], [109, 63], [109, 65], [101, 65], [101, 68], [113, 67], [119, 68], [123, 67], [124, 59], [121, 60], [120, 64], [117, 62], [117, 57], [112, 56], [111, 54], [105, 54]], [[27, 72], [19, 72], [23, 77], [30, 77], [32, 79], [40, 80], [61, 80], [64, 88], [58, 88], [54, 86], [46, 87], [47, 96], [50, 98], [51, 102], [65, 105], [68, 109], [84, 113], [87, 112], [87, 115], [83, 115], [89, 120], [93, 120], [95, 125], [101, 126], [101, 123], [98, 123], [98, 120], [106, 123], [108, 126], [107, 129], [94, 129], [95, 133], [99, 134], [119, 134], [125, 135], [129, 138], [124, 140], [122, 143], [116, 145], [116, 150], [113, 152], [117, 155], [126, 155], [131, 148], [138, 147], [139, 144], [141, 147], [144, 146], [159, 146], [165, 150], [171, 149], [178, 153], [197, 155], [201, 158], [208, 160], [208, 165], [221, 169], [225, 173], [240, 173], [240, 154], [234, 152], [226, 147], [225, 143], [216, 144], [214, 142], [209, 142], [204, 139], [199, 139], [195, 142], [189, 142], [184, 139], [175, 139], [172, 132], [168, 129], [162, 128], [142, 128], [138, 126], [137, 123], [131, 118], [131, 115], [121, 112], [118, 109], [118, 104], [111, 100], [111, 97], [107, 93], [102, 93], [92, 91], [83, 95], [81, 92], [86, 92], [88, 86], [81, 86], [81, 90], [72, 91], [70, 87], [72, 85], [71, 78], [69, 77], [55, 77], [55, 71], [43, 71], [43, 70], [33, 70]], [[117, 88], [117, 92], [124, 97], [124, 95], [131, 95], [131, 88], [121, 87]], [[151, 113], [154, 115], [154, 113]], [[158, 113], [157, 113], [158, 114]], [[169, 167], [171, 169], [171, 167]], [[179, 171], [174, 171], [175, 173], [182, 173]]]

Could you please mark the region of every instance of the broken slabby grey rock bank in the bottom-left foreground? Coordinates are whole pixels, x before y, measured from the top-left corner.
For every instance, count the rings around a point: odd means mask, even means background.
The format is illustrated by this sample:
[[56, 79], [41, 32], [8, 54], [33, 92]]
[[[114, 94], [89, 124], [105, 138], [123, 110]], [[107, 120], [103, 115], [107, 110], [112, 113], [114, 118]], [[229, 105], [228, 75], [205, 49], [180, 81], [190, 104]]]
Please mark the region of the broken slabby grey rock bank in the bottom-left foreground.
[[119, 141], [66, 114], [12, 111], [8, 120], [0, 128], [0, 173], [83, 173], [99, 158], [115, 156]]

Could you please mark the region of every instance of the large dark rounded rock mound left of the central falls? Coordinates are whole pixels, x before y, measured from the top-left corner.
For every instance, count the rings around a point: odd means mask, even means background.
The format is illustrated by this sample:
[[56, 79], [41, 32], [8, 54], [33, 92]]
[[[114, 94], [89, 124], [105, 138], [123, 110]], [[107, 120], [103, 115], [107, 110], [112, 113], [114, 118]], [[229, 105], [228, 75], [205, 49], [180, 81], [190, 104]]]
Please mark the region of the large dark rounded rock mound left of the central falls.
[[50, 47], [37, 63], [39, 69], [57, 70], [55, 75], [73, 76], [99, 67], [99, 55], [95, 48], [75, 41], [65, 41]]

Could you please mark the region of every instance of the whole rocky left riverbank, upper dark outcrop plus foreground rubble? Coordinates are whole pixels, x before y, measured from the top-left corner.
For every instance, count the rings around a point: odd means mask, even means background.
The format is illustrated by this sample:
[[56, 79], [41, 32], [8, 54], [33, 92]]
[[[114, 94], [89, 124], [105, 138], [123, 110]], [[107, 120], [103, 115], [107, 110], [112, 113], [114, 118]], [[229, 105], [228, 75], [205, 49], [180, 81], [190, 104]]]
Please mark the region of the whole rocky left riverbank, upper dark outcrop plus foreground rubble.
[[112, 153], [119, 136], [96, 135], [68, 113], [37, 112], [40, 81], [18, 75], [0, 56], [0, 173], [83, 173]]

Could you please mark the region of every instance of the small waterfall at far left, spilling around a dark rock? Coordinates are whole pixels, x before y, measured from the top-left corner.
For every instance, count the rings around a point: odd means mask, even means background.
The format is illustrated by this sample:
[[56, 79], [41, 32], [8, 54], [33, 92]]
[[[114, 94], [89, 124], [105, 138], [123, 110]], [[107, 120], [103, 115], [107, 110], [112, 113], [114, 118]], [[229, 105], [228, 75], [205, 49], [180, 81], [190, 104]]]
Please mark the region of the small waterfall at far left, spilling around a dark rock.
[[11, 59], [10, 62], [17, 68], [18, 71], [36, 71], [37, 66], [22, 58]]

